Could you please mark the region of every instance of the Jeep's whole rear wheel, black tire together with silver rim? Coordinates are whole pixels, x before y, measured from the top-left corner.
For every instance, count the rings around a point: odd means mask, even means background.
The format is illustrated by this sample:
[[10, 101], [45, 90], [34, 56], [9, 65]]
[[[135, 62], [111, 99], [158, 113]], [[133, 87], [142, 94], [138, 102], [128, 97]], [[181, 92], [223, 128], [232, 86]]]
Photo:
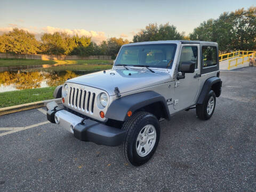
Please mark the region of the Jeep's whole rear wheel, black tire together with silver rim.
[[214, 91], [210, 90], [203, 104], [196, 105], [196, 115], [203, 120], [210, 119], [216, 105], [216, 96]]

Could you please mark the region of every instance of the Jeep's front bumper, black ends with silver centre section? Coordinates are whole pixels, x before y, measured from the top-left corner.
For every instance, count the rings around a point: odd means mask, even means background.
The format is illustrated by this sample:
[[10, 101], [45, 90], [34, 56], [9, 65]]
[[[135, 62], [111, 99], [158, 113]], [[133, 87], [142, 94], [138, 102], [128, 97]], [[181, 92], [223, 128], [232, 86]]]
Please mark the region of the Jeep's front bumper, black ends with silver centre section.
[[48, 103], [46, 108], [47, 119], [51, 123], [59, 124], [81, 141], [91, 141], [98, 145], [118, 146], [125, 139], [126, 131], [89, 118], [79, 117], [65, 110], [62, 105], [58, 105], [55, 101]]

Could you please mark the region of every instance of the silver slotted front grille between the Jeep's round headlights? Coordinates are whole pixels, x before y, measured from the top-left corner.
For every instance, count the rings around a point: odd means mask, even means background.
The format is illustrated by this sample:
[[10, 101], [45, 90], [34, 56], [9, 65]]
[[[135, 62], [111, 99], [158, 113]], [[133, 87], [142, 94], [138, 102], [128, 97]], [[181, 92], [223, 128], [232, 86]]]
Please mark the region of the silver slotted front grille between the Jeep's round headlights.
[[68, 106], [93, 114], [95, 95], [94, 92], [70, 86]]

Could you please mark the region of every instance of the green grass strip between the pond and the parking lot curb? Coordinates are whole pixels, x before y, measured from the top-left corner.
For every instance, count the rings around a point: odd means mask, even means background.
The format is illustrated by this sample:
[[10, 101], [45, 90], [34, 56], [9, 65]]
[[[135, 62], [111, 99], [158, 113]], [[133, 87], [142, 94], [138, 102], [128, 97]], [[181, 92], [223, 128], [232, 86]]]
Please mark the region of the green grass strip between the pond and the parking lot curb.
[[28, 89], [21, 91], [8, 91], [0, 93], [0, 108], [21, 105], [35, 101], [43, 101], [53, 98], [55, 87]]

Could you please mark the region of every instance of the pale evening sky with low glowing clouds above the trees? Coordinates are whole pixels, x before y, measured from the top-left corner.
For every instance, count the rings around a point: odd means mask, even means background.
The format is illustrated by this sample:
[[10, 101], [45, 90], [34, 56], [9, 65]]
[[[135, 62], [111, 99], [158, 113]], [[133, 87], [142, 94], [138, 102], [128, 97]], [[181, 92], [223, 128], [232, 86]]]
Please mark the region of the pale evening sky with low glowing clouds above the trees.
[[203, 21], [250, 6], [256, 6], [256, 1], [0, 0], [0, 34], [18, 27], [37, 38], [46, 32], [66, 31], [91, 36], [96, 43], [110, 37], [132, 41], [133, 35], [149, 23], [169, 22], [188, 35]]

